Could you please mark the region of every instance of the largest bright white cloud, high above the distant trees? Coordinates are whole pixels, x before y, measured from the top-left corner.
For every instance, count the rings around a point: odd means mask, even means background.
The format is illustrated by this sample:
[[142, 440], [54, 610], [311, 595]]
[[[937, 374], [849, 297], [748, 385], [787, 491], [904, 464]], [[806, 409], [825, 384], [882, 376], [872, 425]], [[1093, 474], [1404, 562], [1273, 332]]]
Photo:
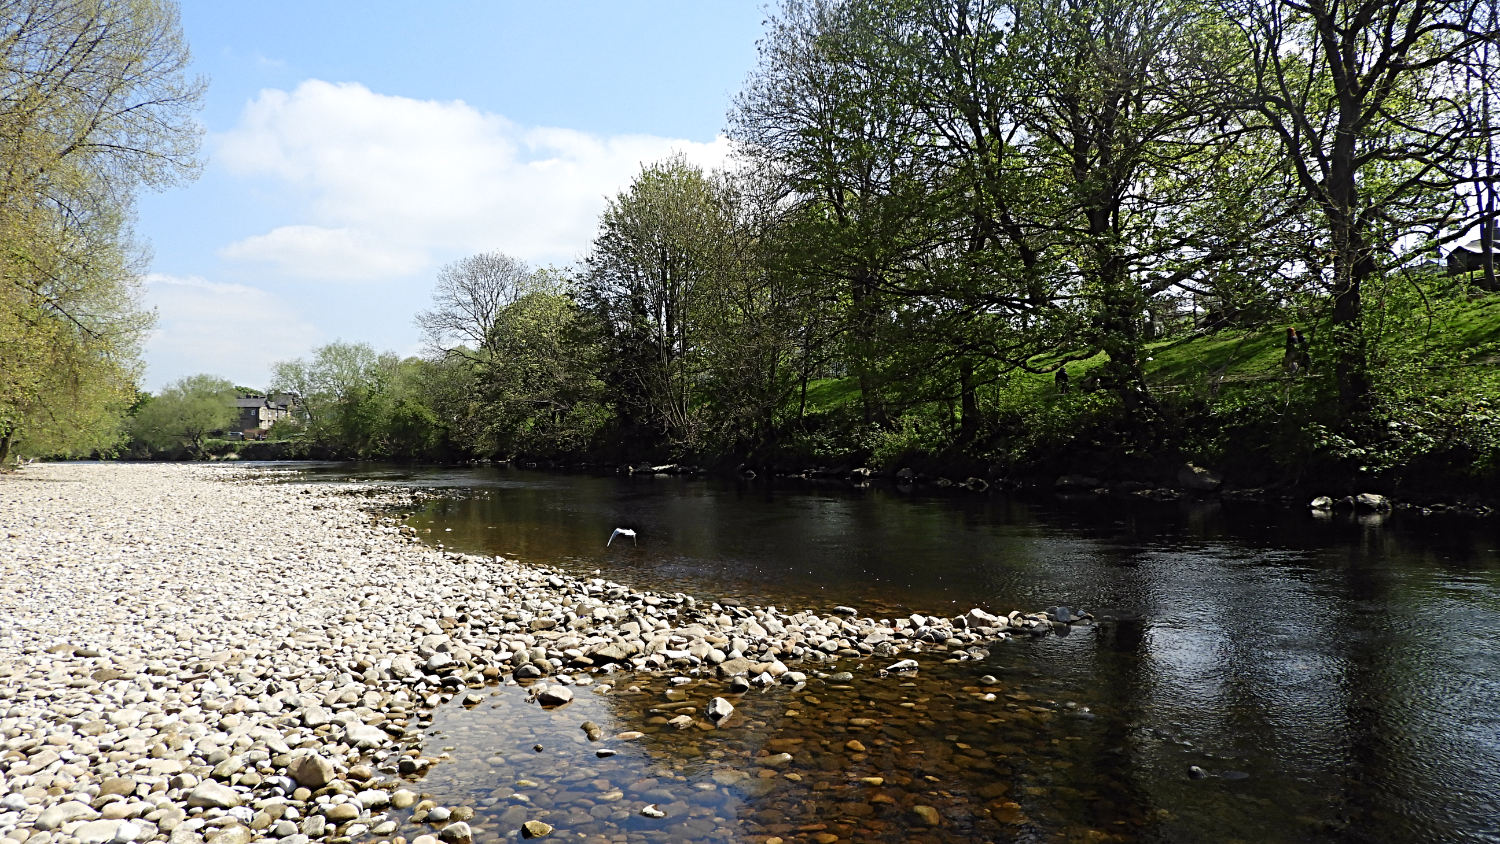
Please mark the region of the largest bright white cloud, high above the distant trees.
[[566, 262], [588, 247], [604, 198], [674, 151], [716, 166], [729, 142], [526, 129], [462, 100], [309, 79], [261, 91], [216, 154], [237, 175], [300, 192], [306, 222], [220, 255], [312, 279], [406, 276], [489, 249]]

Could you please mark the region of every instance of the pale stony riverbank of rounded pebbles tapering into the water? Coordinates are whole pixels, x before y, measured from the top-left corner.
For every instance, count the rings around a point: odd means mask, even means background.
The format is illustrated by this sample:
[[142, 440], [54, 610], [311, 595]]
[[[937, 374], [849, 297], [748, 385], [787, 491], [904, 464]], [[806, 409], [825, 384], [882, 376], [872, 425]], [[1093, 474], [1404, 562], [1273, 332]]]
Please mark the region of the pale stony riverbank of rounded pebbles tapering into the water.
[[[423, 546], [396, 516], [411, 490], [286, 481], [202, 465], [0, 478], [0, 844], [392, 840], [387, 810], [418, 801], [402, 778], [436, 763], [416, 747], [428, 712], [484, 684], [554, 702], [620, 667], [795, 685], [822, 661], [900, 673], [1074, 621], [634, 591]], [[480, 834], [464, 807], [418, 808], [444, 841]]]

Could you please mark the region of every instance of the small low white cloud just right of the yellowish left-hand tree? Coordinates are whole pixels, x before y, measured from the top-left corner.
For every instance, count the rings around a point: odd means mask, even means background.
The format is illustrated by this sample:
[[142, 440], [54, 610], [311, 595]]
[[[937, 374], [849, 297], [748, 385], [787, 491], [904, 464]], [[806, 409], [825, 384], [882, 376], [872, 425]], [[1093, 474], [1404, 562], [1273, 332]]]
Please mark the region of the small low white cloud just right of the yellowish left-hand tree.
[[302, 355], [321, 336], [276, 297], [244, 285], [152, 273], [146, 300], [158, 313], [146, 343], [150, 390], [195, 372], [264, 387], [272, 363]]

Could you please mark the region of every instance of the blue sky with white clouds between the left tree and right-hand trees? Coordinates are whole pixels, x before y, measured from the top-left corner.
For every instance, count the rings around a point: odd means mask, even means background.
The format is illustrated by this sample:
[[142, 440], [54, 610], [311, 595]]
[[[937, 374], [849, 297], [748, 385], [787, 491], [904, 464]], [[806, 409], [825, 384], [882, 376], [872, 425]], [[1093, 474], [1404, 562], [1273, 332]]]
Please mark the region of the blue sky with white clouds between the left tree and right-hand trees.
[[436, 268], [566, 265], [604, 196], [723, 160], [759, 1], [184, 0], [207, 166], [146, 195], [152, 390], [342, 339], [414, 354]]

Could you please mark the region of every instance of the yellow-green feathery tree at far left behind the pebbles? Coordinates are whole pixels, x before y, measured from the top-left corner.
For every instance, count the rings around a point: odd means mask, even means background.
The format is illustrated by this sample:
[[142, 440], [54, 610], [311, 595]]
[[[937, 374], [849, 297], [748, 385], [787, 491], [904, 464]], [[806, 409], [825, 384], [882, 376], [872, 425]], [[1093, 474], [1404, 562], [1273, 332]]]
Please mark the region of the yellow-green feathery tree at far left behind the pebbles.
[[129, 219], [196, 174], [176, 3], [0, 3], [0, 456], [110, 445], [150, 315]]

